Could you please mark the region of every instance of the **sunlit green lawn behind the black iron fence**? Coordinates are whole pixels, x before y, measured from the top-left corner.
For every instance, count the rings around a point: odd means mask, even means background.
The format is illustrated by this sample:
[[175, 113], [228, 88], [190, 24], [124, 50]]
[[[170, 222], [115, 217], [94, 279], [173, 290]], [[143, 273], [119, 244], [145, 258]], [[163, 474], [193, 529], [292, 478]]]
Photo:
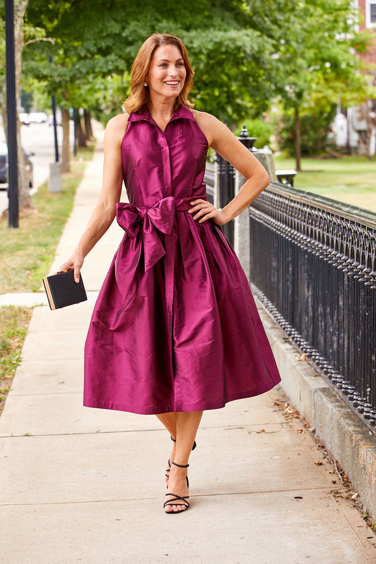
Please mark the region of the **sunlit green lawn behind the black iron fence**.
[[[274, 157], [276, 169], [294, 169], [294, 158]], [[376, 157], [303, 158], [294, 188], [376, 212]]]

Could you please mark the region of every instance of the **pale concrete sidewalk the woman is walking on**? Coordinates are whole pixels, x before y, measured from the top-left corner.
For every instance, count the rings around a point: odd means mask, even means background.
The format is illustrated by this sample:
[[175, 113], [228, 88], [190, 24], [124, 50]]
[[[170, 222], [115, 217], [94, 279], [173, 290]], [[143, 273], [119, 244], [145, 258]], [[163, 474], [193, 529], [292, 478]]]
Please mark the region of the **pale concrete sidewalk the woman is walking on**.
[[[76, 246], [100, 192], [102, 135], [95, 135], [94, 160], [51, 273]], [[122, 236], [114, 221], [85, 258], [88, 290], [100, 289]], [[92, 307], [33, 312], [0, 417], [0, 562], [376, 561], [375, 537], [350, 501], [335, 495], [342, 488], [315, 440], [273, 404], [282, 398], [279, 386], [204, 413], [189, 459], [191, 507], [165, 514], [171, 440], [157, 417], [82, 406]]]

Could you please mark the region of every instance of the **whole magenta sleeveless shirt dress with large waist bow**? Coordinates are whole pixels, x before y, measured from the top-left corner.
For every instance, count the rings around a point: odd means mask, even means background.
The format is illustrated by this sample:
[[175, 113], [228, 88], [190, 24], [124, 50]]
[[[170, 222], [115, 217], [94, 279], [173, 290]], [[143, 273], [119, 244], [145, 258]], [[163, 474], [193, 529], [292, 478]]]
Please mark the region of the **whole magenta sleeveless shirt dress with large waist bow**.
[[125, 231], [85, 341], [83, 405], [151, 415], [218, 409], [280, 373], [235, 250], [206, 200], [208, 143], [181, 104], [160, 129], [131, 112], [122, 139]]

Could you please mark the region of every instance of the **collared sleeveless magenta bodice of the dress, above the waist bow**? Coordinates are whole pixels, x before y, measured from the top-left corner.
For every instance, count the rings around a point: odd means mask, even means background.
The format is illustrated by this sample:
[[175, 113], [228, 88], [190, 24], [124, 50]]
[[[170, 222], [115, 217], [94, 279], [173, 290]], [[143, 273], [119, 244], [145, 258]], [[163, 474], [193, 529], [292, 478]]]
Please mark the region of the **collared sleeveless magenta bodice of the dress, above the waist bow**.
[[208, 143], [193, 113], [180, 104], [163, 132], [148, 108], [131, 112], [121, 143], [122, 171], [131, 204], [154, 204], [205, 193]]

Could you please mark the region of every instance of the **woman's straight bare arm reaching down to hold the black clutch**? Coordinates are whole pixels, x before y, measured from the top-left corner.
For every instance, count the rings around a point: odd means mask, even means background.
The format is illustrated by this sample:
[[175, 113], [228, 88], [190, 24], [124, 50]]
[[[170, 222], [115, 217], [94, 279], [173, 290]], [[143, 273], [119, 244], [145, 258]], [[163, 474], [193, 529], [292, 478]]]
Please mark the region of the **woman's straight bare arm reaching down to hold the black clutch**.
[[102, 189], [76, 249], [59, 268], [59, 270], [74, 270], [76, 282], [79, 281], [83, 259], [98, 243], [116, 217], [116, 204], [120, 201], [123, 183], [121, 141], [127, 128], [127, 122], [128, 114], [120, 114], [109, 120], [107, 124], [103, 141]]

